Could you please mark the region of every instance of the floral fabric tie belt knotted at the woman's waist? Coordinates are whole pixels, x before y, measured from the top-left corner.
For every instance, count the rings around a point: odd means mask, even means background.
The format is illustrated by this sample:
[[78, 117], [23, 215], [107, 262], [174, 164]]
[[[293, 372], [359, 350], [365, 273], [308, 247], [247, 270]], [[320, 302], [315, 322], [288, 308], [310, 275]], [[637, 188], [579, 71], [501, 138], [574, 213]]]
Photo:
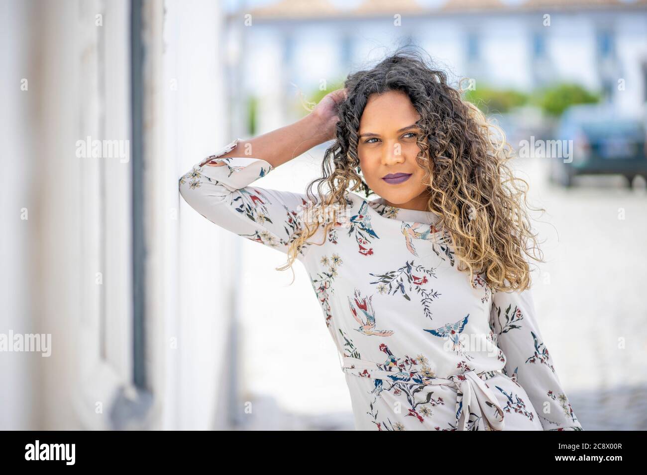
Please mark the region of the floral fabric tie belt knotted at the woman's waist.
[[448, 378], [441, 378], [406, 370], [382, 370], [379, 364], [372, 361], [342, 357], [342, 371], [358, 377], [382, 379], [391, 383], [450, 386], [456, 390], [457, 430], [468, 429], [470, 414], [474, 414], [477, 418], [484, 417], [487, 420], [487, 425], [492, 430], [503, 430], [503, 408], [501, 408], [492, 390], [485, 385], [487, 379], [502, 374], [501, 370], [480, 373], [468, 371], [463, 374], [451, 375]]

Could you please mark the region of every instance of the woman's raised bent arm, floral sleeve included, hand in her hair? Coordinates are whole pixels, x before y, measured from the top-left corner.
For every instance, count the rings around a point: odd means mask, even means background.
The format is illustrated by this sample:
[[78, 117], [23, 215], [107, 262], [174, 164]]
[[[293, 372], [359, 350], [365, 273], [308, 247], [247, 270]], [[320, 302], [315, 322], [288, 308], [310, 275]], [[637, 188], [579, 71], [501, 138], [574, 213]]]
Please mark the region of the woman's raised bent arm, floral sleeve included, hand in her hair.
[[250, 140], [237, 138], [193, 165], [179, 178], [182, 198], [217, 226], [287, 253], [294, 231], [302, 226], [300, 211], [307, 198], [304, 193], [252, 183], [333, 137], [340, 94], [331, 92], [313, 112], [291, 125]]

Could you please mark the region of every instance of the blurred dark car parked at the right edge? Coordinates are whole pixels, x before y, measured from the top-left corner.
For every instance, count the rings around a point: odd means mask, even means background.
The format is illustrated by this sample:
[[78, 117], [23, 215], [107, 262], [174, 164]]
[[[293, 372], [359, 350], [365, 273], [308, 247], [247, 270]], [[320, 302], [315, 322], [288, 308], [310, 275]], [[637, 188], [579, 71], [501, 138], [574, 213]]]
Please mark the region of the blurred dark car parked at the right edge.
[[639, 174], [647, 179], [647, 132], [641, 118], [605, 105], [575, 105], [564, 112], [555, 135], [573, 140], [573, 146], [570, 157], [551, 158], [553, 182], [568, 187], [582, 174], [622, 174], [630, 186]]

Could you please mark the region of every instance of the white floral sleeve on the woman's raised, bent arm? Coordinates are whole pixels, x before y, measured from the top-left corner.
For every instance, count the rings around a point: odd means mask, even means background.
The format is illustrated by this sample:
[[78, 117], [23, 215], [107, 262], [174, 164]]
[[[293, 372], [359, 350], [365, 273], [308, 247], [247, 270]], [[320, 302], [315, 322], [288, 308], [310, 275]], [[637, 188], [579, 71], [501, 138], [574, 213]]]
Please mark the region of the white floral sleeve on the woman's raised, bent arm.
[[[241, 237], [287, 253], [292, 233], [302, 226], [305, 195], [251, 185], [274, 169], [249, 156], [217, 157], [231, 151], [237, 138], [221, 151], [193, 165], [179, 179], [182, 198], [205, 218]], [[303, 260], [308, 245], [297, 257]]]

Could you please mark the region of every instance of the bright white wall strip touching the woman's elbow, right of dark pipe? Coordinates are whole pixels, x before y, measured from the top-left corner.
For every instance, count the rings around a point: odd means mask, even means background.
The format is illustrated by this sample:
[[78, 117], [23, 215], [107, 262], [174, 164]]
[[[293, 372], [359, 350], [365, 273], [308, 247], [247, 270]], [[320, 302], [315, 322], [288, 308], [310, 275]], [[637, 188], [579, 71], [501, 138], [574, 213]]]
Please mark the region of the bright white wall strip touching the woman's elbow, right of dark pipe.
[[[164, 428], [208, 429], [227, 424], [227, 412], [217, 408], [228, 375], [235, 370], [236, 360], [226, 354], [226, 343], [234, 308], [237, 242], [179, 198], [177, 180], [232, 140], [226, 51], [217, 2], [199, 0], [188, 6], [168, 0], [166, 8], [160, 94], [168, 189], [164, 207], [172, 211], [179, 206], [181, 226], [178, 235], [169, 226], [166, 245], [167, 285], [179, 288], [179, 294], [177, 299], [167, 295], [164, 306], [166, 342], [177, 338], [177, 350], [166, 352]], [[173, 79], [177, 90], [171, 88]]]

